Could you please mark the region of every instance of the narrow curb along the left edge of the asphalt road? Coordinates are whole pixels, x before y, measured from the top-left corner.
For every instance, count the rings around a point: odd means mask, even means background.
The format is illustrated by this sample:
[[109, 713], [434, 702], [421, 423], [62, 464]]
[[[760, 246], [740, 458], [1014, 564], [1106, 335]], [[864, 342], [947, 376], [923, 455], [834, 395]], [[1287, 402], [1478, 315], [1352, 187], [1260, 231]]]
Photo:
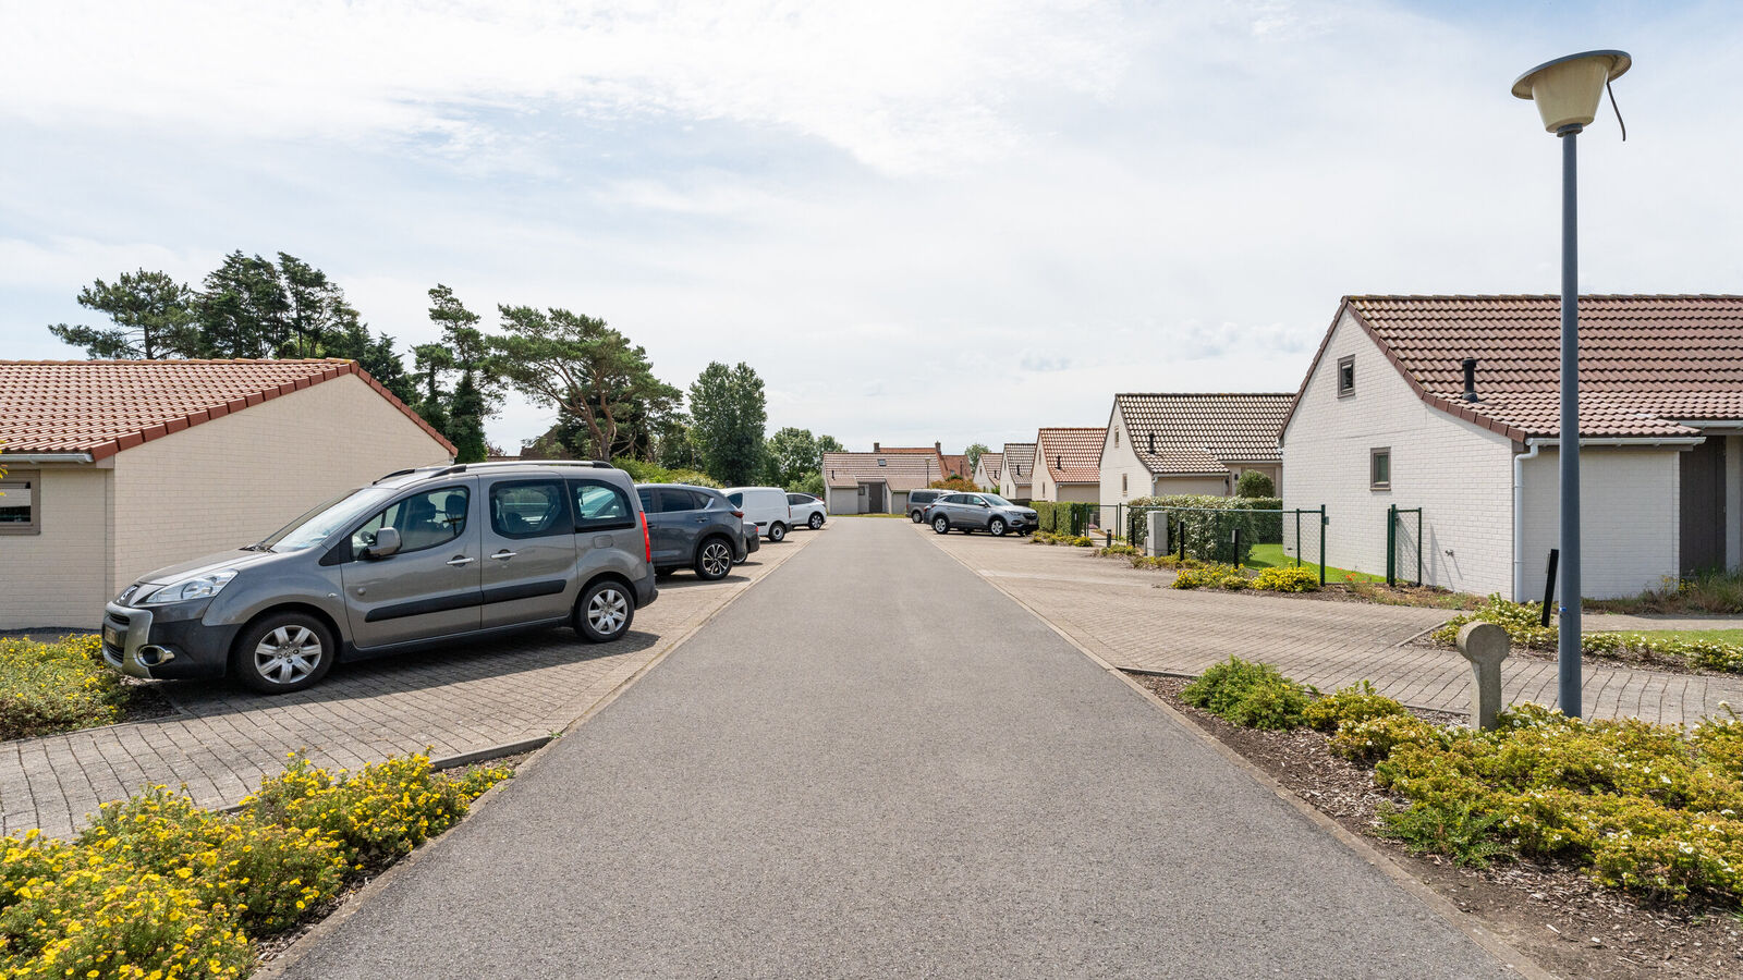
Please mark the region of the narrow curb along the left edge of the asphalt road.
[[[824, 525], [824, 527], [828, 527], [828, 525]], [[810, 541], [812, 541], [812, 537], [807, 535], [807, 544]], [[793, 551], [795, 553], [797, 551], [804, 551], [804, 546], [795, 548]], [[790, 558], [791, 556], [783, 558], [781, 565], [786, 565], [786, 561]], [[338, 909], [335, 909], [333, 912], [329, 912], [319, 922], [310, 924], [307, 931], [303, 931], [295, 940], [291, 940], [291, 943], [286, 945], [282, 950], [279, 950], [279, 954], [274, 956], [270, 963], [267, 963], [267, 964], [260, 966], [258, 970], [254, 970], [253, 973], [249, 973], [249, 980], [279, 980], [279, 977], [284, 977], [284, 973], [288, 970], [291, 970], [293, 966], [296, 966], [296, 963], [302, 961], [303, 956], [309, 954], [309, 949], [315, 942], [319, 942], [321, 938], [329, 936], [335, 931], [338, 931], [338, 928], [343, 926], [352, 915], [356, 915], [359, 909], [363, 909], [364, 905], [370, 903], [370, 900], [373, 900], [382, 891], [385, 891], [389, 884], [392, 884], [396, 879], [399, 879], [410, 868], [415, 868], [420, 861], [424, 861], [429, 856], [429, 853], [434, 849], [434, 844], [439, 844], [450, 834], [453, 834], [455, 827], [460, 827], [460, 823], [465, 823], [474, 814], [478, 814], [481, 809], [485, 809], [486, 806], [490, 806], [492, 802], [495, 802], [497, 795], [507, 785], [514, 783], [514, 779], [521, 778], [525, 772], [535, 771], [539, 767], [539, 764], [544, 762], [544, 759], [546, 759], [546, 752], [544, 750], [549, 748], [551, 743], [560, 741], [563, 736], [566, 736], [568, 732], [579, 729], [589, 718], [593, 718], [594, 715], [598, 715], [600, 711], [603, 711], [612, 701], [617, 701], [617, 698], [622, 696], [624, 691], [629, 691], [629, 687], [634, 682], [641, 680], [643, 677], [648, 675], [648, 671], [652, 671], [655, 666], [659, 666], [661, 663], [664, 663], [666, 657], [669, 657], [673, 654], [673, 650], [676, 650], [685, 642], [688, 642], [690, 636], [694, 636], [704, 626], [708, 626], [709, 623], [713, 623], [716, 616], [720, 616], [722, 612], [725, 612], [727, 609], [730, 609], [732, 603], [736, 603], [744, 593], [748, 593], [748, 591], [755, 589], [756, 586], [760, 586], [765, 579], [769, 579], [769, 575], [772, 575], [779, 568], [770, 568], [767, 574], [763, 574], [762, 577], [751, 581], [743, 589], [739, 589], [739, 595], [736, 595], [736, 596], [729, 598], [727, 602], [720, 603], [718, 607], [715, 607], [715, 610], [709, 612], [708, 616], [704, 616], [701, 621], [697, 621], [695, 626], [692, 626], [692, 628], [685, 630], [682, 635], [678, 635], [678, 638], [673, 640], [669, 647], [666, 647], [659, 654], [654, 654], [648, 659], [648, 663], [641, 664], [634, 673], [631, 673], [622, 682], [619, 682], [617, 687], [607, 691], [603, 696], [600, 696], [598, 701], [594, 701], [591, 706], [587, 706], [586, 711], [582, 711], [573, 720], [570, 720], [566, 725], [563, 725], [561, 732], [549, 734], [549, 736], [530, 738], [530, 739], [523, 739], [523, 741], [511, 741], [511, 743], [495, 745], [495, 746], [490, 746], [490, 748], [479, 748], [476, 752], [462, 752], [460, 755], [450, 755], [446, 759], [431, 760], [431, 766], [436, 767], [436, 769], [455, 769], [455, 767], [460, 767], [460, 766], [471, 766], [474, 762], [488, 762], [492, 759], [504, 759], [504, 757], [509, 757], [509, 755], [521, 755], [525, 752], [532, 753], [532, 755], [528, 755], [526, 762], [521, 762], [521, 766], [514, 771], [514, 776], [511, 776], [507, 779], [502, 779], [495, 786], [485, 790], [485, 793], [479, 795], [476, 800], [472, 800], [472, 806], [467, 807], [465, 816], [462, 816], [458, 823], [455, 823], [453, 827], [450, 827], [448, 830], [444, 830], [441, 834], [441, 837], [432, 837], [432, 839], [425, 840], [424, 844], [418, 844], [417, 849], [413, 849], [410, 854], [399, 858], [397, 861], [394, 861], [392, 865], [389, 865], [382, 874], [378, 874], [373, 879], [370, 879], [368, 884], [364, 884], [363, 888], [359, 888], [357, 891], [354, 891], [350, 896], [347, 896], [338, 905]], [[241, 807], [225, 807], [227, 813], [228, 811], [235, 811], [235, 809], [241, 809]]]

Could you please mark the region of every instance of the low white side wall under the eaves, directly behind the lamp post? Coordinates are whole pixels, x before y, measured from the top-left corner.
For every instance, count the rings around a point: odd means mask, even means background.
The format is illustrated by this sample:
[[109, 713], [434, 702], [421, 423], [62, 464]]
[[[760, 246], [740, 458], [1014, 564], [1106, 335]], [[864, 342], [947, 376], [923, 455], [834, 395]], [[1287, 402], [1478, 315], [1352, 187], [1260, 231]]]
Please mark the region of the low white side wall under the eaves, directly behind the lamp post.
[[[1523, 464], [1523, 598], [1543, 598], [1550, 549], [1562, 537], [1560, 466], [1553, 448]], [[1579, 591], [1586, 598], [1631, 596], [1677, 577], [1680, 478], [1680, 453], [1672, 448], [1581, 448]]]

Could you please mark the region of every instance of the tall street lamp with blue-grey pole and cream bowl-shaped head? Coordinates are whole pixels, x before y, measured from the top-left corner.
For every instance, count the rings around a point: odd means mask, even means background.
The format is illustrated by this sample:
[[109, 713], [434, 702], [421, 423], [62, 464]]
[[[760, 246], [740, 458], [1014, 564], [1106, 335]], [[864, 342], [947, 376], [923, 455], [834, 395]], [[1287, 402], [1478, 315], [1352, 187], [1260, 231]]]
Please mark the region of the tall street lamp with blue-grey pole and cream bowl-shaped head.
[[[1633, 59], [1624, 51], [1586, 51], [1546, 61], [1513, 82], [1537, 103], [1543, 127], [1562, 138], [1562, 616], [1556, 638], [1562, 713], [1579, 717], [1579, 221], [1576, 146], [1598, 115], [1611, 78]], [[1618, 120], [1621, 117], [1618, 115]], [[1626, 131], [1624, 131], [1626, 133]], [[1515, 516], [1515, 520], [1518, 520]]]

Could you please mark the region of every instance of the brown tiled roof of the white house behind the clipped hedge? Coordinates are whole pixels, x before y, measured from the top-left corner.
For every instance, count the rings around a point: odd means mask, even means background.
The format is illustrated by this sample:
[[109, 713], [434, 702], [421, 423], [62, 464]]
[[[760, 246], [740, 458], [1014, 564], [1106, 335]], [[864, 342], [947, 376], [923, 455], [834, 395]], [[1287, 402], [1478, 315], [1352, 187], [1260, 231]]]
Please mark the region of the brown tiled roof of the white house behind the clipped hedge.
[[1220, 474], [1229, 462], [1281, 462], [1278, 432], [1293, 401], [1288, 392], [1114, 396], [1133, 452], [1157, 474]]

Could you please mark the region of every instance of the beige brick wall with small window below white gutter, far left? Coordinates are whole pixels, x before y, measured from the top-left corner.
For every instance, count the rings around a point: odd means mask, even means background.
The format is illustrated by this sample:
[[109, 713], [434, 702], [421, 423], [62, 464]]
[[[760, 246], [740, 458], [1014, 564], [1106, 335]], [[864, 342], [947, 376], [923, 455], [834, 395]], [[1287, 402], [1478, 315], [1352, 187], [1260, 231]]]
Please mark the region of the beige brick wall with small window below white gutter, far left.
[[35, 474], [42, 534], [0, 535], [0, 630], [73, 626], [96, 630], [110, 579], [110, 469], [99, 466], [10, 467]]

